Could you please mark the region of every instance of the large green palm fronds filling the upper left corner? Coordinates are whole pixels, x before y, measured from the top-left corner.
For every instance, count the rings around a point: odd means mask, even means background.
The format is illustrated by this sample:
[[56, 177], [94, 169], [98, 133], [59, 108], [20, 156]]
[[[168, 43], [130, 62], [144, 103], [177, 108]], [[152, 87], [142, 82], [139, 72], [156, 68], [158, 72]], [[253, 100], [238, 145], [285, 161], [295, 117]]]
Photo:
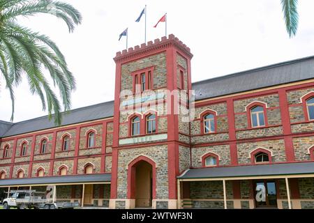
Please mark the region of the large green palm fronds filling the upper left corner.
[[66, 22], [68, 31], [82, 22], [82, 16], [73, 6], [52, 0], [0, 0], [0, 75], [12, 100], [14, 115], [14, 88], [23, 76], [27, 77], [32, 94], [39, 95], [43, 110], [49, 118], [54, 114], [54, 123], [61, 124], [61, 102], [52, 91], [44, 70], [50, 73], [54, 86], [59, 89], [63, 109], [70, 109], [70, 93], [75, 89], [73, 77], [63, 54], [48, 36], [31, 31], [17, 23], [18, 17], [29, 17], [39, 13], [54, 15]]

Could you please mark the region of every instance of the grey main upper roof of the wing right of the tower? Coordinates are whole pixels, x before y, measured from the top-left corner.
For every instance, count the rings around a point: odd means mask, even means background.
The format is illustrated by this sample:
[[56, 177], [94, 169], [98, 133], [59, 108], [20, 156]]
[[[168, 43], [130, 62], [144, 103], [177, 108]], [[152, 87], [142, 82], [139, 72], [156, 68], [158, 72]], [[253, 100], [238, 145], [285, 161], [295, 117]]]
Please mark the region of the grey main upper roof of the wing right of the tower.
[[276, 63], [192, 84], [195, 100], [314, 78], [314, 56]]

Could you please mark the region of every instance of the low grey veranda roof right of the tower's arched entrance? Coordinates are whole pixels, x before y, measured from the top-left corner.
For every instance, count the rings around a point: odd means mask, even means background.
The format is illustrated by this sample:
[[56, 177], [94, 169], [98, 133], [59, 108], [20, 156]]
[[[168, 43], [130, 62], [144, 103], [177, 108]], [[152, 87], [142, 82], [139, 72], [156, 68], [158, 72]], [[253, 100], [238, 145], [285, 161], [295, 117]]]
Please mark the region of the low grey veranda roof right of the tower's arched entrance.
[[314, 162], [188, 169], [188, 171], [186, 171], [178, 178], [180, 179], [227, 178], [244, 176], [294, 175], [294, 174], [314, 174]]

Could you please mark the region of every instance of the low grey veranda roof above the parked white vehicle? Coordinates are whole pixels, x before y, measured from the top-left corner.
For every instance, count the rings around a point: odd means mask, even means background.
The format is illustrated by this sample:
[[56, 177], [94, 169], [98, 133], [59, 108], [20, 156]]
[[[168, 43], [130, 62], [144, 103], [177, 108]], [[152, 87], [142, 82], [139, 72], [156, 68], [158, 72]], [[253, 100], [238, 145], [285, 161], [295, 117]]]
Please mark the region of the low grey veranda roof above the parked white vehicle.
[[100, 183], [110, 182], [111, 174], [86, 174], [74, 176], [48, 176], [36, 178], [15, 178], [0, 180], [0, 186], [12, 185], [50, 185], [58, 183]]

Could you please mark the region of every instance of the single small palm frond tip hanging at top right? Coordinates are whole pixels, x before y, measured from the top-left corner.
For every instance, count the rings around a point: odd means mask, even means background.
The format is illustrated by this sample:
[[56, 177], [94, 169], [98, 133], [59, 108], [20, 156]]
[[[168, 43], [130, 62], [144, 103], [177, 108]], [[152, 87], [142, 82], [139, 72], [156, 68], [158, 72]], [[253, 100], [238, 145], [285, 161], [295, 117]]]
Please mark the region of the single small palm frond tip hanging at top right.
[[283, 7], [283, 17], [285, 18], [285, 28], [289, 37], [292, 38], [297, 33], [299, 14], [297, 11], [298, 0], [281, 0]]

